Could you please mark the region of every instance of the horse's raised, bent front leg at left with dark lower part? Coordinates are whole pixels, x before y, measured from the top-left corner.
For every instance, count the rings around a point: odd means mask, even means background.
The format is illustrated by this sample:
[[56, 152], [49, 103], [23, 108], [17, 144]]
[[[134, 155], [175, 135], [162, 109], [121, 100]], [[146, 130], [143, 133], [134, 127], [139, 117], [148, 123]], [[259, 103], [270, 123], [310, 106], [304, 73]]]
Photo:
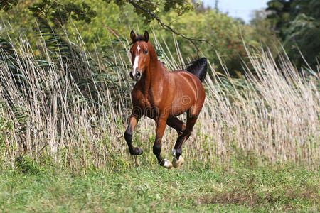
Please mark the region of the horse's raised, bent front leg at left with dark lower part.
[[127, 130], [124, 132], [124, 138], [127, 141], [129, 152], [132, 155], [141, 155], [142, 149], [139, 147], [132, 146], [132, 131], [134, 131], [134, 127], [137, 126], [139, 119], [141, 118], [140, 114], [135, 114], [134, 111], [132, 111], [132, 114], [130, 116], [129, 125], [127, 127]]

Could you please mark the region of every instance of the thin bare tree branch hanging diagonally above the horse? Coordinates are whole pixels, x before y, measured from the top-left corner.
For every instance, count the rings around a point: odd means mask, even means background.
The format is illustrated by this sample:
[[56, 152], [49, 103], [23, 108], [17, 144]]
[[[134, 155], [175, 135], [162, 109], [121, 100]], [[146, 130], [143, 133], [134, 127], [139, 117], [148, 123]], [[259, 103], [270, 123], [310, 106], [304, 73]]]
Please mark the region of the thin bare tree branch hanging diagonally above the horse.
[[129, 0], [129, 3], [132, 4], [132, 6], [134, 6], [135, 8], [140, 9], [140, 10], [144, 11], [145, 13], [148, 13], [150, 16], [154, 17], [154, 19], [156, 19], [156, 21], [158, 21], [158, 22], [160, 23], [160, 25], [162, 26], [162, 28], [165, 28], [166, 30], [169, 30], [169, 31], [171, 31], [172, 33], [174, 33], [174, 34], [176, 34], [176, 35], [179, 35], [179, 36], [181, 36], [182, 38], [185, 38], [186, 40], [190, 41], [190, 42], [193, 44], [193, 46], [196, 48], [196, 50], [197, 50], [197, 55], [198, 55], [198, 56], [199, 56], [200, 50], [198, 49], [195, 41], [198, 41], [198, 42], [206, 42], [206, 43], [208, 43], [211, 47], [214, 48], [214, 46], [213, 46], [208, 40], [196, 39], [196, 38], [188, 38], [186, 35], [183, 35], [183, 34], [181, 34], [181, 33], [176, 32], [173, 28], [171, 28], [171, 26], [169, 26], [169, 25], [167, 25], [166, 23], [164, 23], [163, 21], [161, 21], [161, 19], [160, 19], [158, 16], [156, 16], [155, 13], [153, 13], [153, 12], [145, 9], [143, 6], [137, 4], [134, 0]]

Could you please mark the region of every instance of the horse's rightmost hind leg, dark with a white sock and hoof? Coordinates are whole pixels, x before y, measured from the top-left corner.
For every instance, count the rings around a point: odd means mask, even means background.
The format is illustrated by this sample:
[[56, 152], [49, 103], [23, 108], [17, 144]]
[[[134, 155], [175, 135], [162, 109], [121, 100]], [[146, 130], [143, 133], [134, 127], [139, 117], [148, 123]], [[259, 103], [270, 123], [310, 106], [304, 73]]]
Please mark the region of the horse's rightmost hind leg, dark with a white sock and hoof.
[[198, 119], [198, 113], [192, 114], [191, 110], [187, 111], [187, 115], [186, 129], [180, 136], [178, 136], [176, 145], [174, 146], [174, 150], [172, 151], [172, 155], [174, 155], [174, 160], [172, 160], [172, 163], [176, 168], [184, 162], [183, 158], [181, 157], [182, 146], [183, 143], [191, 136], [193, 126], [194, 124], [196, 124], [196, 121]]

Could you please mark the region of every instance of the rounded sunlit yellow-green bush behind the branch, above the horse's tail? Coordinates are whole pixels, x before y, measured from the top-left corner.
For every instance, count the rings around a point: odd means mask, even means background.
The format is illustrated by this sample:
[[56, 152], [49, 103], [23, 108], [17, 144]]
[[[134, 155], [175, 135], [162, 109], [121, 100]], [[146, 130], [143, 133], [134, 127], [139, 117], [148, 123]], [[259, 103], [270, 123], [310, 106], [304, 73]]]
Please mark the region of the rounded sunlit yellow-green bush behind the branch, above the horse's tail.
[[[166, 23], [169, 23], [176, 16], [174, 13], [169, 13], [163, 18]], [[156, 24], [154, 27], [156, 27]], [[176, 18], [174, 27], [190, 38], [202, 38], [210, 41], [214, 47], [205, 42], [197, 43], [198, 48], [201, 50], [201, 55], [208, 58], [218, 72], [224, 72], [220, 64], [220, 59], [223, 60], [232, 76], [237, 76], [237, 72], [240, 72], [240, 58], [245, 56], [245, 48], [241, 36], [243, 36], [247, 44], [260, 45], [259, 41], [252, 43], [250, 33], [253, 32], [252, 30], [250, 31], [250, 26], [242, 25], [235, 19], [215, 10], [207, 10], [203, 13], [188, 12], [181, 18]], [[171, 33], [156, 31], [156, 35], [160, 38], [163, 37], [166, 43], [175, 42]], [[178, 36], [176, 40], [182, 49], [183, 58], [189, 58], [190, 60], [196, 58], [196, 50], [188, 40]], [[170, 52], [175, 52], [175, 45], [169, 45], [169, 50]], [[220, 59], [216, 53], [220, 55]]]

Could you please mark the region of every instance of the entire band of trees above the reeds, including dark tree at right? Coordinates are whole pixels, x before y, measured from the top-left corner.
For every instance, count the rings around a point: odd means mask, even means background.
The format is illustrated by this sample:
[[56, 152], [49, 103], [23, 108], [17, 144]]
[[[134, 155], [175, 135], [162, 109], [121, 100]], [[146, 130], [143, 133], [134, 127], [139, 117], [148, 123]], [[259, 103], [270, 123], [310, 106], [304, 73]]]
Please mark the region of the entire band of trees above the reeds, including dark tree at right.
[[[151, 16], [151, 13], [154, 13], [164, 23], [169, 23], [173, 28], [178, 29], [179, 33], [183, 33], [189, 38], [201, 38], [213, 43], [215, 48], [208, 46], [206, 43], [197, 43], [197, 45], [203, 55], [209, 58], [210, 62], [213, 62], [217, 66], [216, 68], [222, 72], [222, 67], [219, 65], [220, 62], [215, 56], [215, 50], [217, 50], [220, 58], [227, 65], [230, 74], [233, 76], [240, 75], [241, 60], [239, 60], [239, 56], [244, 55], [241, 35], [243, 35], [247, 45], [257, 48], [262, 43], [270, 46], [270, 44], [274, 45], [276, 39], [274, 38], [273, 30], [268, 31], [267, 29], [274, 29], [274, 32], [285, 42], [285, 48], [289, 56], [298, 66], [303, 65], [304, 60], [297, 48], [302, 50], [302, 54], [312, 67], [316, 66], [316, 57], [319, 57], [320, 54], [318, 43], [316, 43], [316, 40], [310, 39], [317, 38], [319, 35], [320, 3], [316, 0], [269, 1], [267, 11], [270, 14], [267, 19], [270, 22], [265, 20], [265, 15], [260, 16], [259, 14], [252, 21], [251, 26], [245, 26], [242, 21], [230, 18], [220, 13], [218, 9], [203, 8], [195, 12], [194, 9], [199, 4], [198, 1], [191, 0], [164, 2], [161, 0], [94, 0], [90, 3], [80, 0], [38, 0], [16, 3], [16, 1], [6, 0], [1, 3], [0, 8], [5, 11], [14, 11], [14, 14], [9, 15], [14, 16], [11, 19], [18, 19], [21, 16], [19, 14], [20, 11], [31, 13], [32, 16], [42, 21], [49, 21], [48, 23], [55, 28], [57, 33], [61, 33], [61, 25], [66, 26], [70, 32], [75, 33], [74, 29], [71, 29], [73, 28], [73, 23], [68, 21], [72, 18], [87, 47], [91, 50], [95, 48], [95, 43], [103, 47], [107, 40], [114, 35], [128, 38], [127, 26], [136, 26], [137, 24], [139, 27], [144, 26], [144, 29], [154, 27], [157, 35], [162, 34], [165, 38], [171, 38], [169, 31], [157, 30], [159, 28], [158, 22], [154, 20], [154, 16]], [[21, 10], [23, 5], [25, 9]], [[137, 5], [147, 11], [140, 9]], [[299, 14], [304, 15], [298, 16]], [[26, 16], [21, 16], [20, 18], [21, 21], [16, 22], [18, 26], [29, 19]], [[34, 31], [28, 21], [18, 26], [17, 28], [21, 28], [23, 33]], [[194, 50], [191, 43], [183, 38], [177, 39], [179, 43], [182, 43], [183, 57], [193, 58], [196, 50]], [[172, 42], [171, 39], [170, 43]], [[312, 47], [312, 50], [306, 48], [309, 46]], [[174, 45], [170, 45], [170, 47], [173, 48]], [[277, 51], [272, 50], [272, 53], [276, 54]]]

